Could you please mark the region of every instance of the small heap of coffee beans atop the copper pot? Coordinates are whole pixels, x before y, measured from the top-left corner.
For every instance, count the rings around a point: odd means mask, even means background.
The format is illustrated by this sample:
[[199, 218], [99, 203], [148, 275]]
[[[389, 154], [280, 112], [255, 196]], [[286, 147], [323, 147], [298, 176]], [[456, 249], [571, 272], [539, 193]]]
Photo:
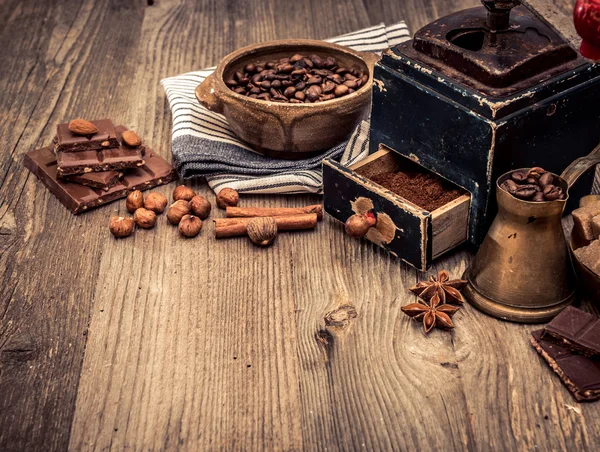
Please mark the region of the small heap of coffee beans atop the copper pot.
[[515, 171], [510, 179], [500, 186], [515, 198], [525, 201], [544, 202], [565, 199], [566, 193], [558, 185], [554, 185], [555, 177], [543, 168], [536, 166], [528, 171]]

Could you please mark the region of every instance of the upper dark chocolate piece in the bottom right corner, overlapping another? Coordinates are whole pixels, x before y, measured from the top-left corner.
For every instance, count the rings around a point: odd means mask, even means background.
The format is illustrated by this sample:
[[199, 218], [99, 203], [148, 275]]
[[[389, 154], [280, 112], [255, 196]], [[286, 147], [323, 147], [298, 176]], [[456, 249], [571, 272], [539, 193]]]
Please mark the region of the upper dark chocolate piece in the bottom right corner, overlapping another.
[[586, 356], [600, 355], [600, 318], [581, 309], [568, 306], [544, 328], [544, 339]]

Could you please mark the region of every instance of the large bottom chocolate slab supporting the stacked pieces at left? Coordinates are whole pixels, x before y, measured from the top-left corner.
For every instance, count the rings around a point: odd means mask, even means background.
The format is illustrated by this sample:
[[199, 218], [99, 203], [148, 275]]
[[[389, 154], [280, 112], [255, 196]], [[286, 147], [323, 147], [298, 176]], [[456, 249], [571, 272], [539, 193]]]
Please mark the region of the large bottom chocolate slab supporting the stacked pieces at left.
[[74, 214], [124, 198], [133, 190], [167, 184], [177, 177], [173, 167], [149, 149], [146, 149], [146, 163], [128, 170], [108, 191], [57, 179], [56, 156], [49, 147], [26, 153], [24, 164]]

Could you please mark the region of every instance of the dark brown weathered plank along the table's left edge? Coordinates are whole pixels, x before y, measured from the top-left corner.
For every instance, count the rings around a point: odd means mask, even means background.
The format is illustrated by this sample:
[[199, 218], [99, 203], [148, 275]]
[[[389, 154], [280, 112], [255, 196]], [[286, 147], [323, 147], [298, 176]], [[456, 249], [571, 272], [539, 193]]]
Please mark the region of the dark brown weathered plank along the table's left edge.
[[[103, 214], [68, 213], [22, 166], [73, 115], [110, 115], [141, 21], [110, 2], [4, 2], [0, 34], [0, 449], [64, 449], [85, 349]], [[110, 28], [107, 36], [104, 30]], [[109, 69], [109, 70], [107, 70]], [[108, 94], [107, 94], [108, 93]], [[101, 101], [98, 101], [101, 99]], [[100, 226], [100, 223], [102, 226]]]

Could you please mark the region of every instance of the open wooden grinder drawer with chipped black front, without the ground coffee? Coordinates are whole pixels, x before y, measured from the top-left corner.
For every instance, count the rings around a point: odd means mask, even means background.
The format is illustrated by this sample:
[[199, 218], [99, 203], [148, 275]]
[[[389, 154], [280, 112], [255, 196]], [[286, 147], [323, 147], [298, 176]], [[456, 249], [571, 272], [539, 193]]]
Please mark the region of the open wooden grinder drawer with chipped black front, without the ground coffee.
[[[453, 193], [462, 193], [428, 211], [407, 199], [414, 197], [401, 196], [372, 180], [389, 172], [427, 174]], [[377, 223], [365, 238], [418, 270], [428, 269], [433, 259], [467, 240], [471, 195], [383, 145], [350, 167], [324, 160], [323, 190], [325, 211], [341, 222], [372, 211]]]

